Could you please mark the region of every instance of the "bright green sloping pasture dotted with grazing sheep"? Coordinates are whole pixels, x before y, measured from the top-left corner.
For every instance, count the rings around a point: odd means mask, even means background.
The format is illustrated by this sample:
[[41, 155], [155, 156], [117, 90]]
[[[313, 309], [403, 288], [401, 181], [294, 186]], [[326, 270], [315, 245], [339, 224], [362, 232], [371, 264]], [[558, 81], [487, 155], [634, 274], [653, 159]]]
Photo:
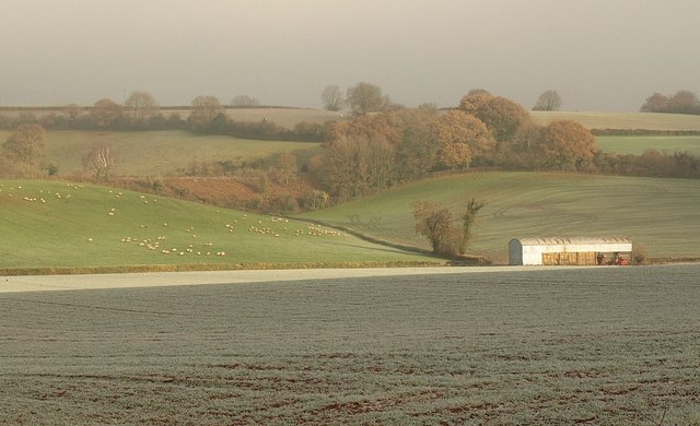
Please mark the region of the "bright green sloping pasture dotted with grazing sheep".
[[[261, 234], [250, 227], [270, 230]], [[350, 236], [310, 233], [302, 222], [136, 192], [119, 196], [103, 187], [0, 180], [0, 268], [427, 260]], [[149, 250], [155, 242], [160, 247]], [[190, 245], [192, 252], [187, 251]], [[215, 256], [219, 251], [226, 256]]]

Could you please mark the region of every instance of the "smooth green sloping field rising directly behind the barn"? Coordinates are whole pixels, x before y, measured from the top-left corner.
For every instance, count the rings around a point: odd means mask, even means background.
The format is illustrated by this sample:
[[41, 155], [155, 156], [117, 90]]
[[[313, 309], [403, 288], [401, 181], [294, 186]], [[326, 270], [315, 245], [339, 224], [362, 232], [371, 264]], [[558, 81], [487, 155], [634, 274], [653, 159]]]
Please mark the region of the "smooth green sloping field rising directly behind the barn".
[[508, 261], [511, 238], [527, 236], [625, 235], [651, 257], [700, 256], [698, 180], [544, 173], [444, 176], [304, 217], [428, 248], [415, 233], [411, 202], [435, 200], [456, 211], [471, 197], [486, 202], [472, 252], [495, 261]]

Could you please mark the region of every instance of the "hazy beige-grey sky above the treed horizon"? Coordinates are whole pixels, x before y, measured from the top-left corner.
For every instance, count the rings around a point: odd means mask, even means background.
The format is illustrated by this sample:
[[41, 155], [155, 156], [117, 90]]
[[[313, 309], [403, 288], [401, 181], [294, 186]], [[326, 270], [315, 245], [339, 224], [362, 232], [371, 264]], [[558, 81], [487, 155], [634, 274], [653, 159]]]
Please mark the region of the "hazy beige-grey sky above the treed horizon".
[[407, 106], [487, 88], [634, 111], [700, 93], [699, 0], [2, 0], [0, 105], [198, 95], [320, 107], [360, 81]]

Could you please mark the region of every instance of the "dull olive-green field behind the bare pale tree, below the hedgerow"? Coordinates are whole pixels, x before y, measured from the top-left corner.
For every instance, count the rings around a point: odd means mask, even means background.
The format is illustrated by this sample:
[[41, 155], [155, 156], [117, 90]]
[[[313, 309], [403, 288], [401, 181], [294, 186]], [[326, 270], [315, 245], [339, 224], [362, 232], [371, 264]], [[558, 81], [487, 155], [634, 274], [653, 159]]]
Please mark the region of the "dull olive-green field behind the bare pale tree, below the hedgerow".
[[[11, 132], [0, 131], [0, 141]], [[252, 161], [282, 152], [306, 152], [315, 142], [255, 141], [224, 135], [198, 135], [183, 130], [101, 132], [57, 130], [47, 132], [47, 159], [60, 175], [83, 170], [82, 157], [96, 142], [117, 153], [115, 173], [124, 176], [182, 175], [194, 161]]]

